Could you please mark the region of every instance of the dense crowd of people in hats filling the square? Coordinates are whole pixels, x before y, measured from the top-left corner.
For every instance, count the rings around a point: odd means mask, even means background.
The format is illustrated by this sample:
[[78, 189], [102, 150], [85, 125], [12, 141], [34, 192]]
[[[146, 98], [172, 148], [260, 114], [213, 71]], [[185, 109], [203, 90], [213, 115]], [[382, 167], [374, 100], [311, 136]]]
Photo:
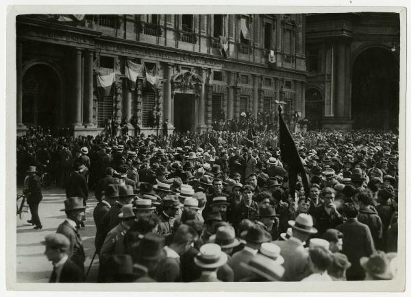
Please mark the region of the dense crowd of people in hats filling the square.
[[257, 136], [253, 147], [246, 131], [18, 137], [34, 228], [42, 173], [66, 191], [66, 219], [44, 241], [50, 282], [87, 281], [85, 219], [95, 222], [101, 283], [394, 278], [398, 134], [294, 134], [310, 181], [295, 195], [277, 133]]

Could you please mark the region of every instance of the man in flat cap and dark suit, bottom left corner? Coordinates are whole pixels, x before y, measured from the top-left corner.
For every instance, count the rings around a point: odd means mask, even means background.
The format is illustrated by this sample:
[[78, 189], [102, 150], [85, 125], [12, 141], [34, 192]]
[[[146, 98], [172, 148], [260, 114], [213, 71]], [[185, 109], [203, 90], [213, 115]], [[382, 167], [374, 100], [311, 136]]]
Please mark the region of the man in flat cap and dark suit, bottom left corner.
[[42, 241], [46, 246], [45, 255], [53, 263], [49, 283], [82, 283], [84, 272], [75, 263], [69, 260], [67, 250], [70, 247], [69, 239], [59, 233], [50, 234]]

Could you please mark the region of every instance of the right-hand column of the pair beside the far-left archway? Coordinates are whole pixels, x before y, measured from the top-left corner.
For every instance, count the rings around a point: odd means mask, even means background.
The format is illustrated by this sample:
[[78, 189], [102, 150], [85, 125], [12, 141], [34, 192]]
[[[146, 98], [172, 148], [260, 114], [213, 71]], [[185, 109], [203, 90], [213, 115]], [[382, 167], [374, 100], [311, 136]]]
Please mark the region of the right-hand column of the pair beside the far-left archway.
[[93, 77], [92, 69], [94, 63], [92, 51], [86, 53], [86, 67], [84, 69], [84, 113], [83, 125], [92, 126], [92, 106], [93, 106]]

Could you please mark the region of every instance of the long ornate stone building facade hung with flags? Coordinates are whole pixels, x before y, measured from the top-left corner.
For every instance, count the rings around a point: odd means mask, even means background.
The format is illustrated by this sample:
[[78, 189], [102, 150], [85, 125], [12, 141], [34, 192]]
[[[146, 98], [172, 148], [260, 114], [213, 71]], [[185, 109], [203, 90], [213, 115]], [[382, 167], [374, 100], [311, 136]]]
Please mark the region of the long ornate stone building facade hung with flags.
[[[146, 133], [156, 119], [200, 132], [222, 113], [275, 112], [276, 102], [304, 117], [305, 23], [303, 14], [18, 16], [17, 131], [98, 134], [126, 118]], [[129, 64], [141, 69], [135, 82]]]

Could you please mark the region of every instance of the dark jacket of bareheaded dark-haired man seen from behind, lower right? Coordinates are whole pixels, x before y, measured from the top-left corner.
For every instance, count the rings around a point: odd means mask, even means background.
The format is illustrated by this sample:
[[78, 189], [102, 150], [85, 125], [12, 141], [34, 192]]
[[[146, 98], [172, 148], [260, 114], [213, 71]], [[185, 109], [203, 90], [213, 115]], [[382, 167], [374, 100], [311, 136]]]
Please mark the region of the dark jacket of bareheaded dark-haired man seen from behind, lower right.
[[347, 270], [347, 280], [363, 280], [364, 269], [360, 265], [361, 257], [369, 257], [374, 252], [374, 242], [371, 231], [366, 224], [358, 222], [358, 219], [347, 219], [347, 222], [336, 227], [343, 233], [343, 254], [351, 262]]

